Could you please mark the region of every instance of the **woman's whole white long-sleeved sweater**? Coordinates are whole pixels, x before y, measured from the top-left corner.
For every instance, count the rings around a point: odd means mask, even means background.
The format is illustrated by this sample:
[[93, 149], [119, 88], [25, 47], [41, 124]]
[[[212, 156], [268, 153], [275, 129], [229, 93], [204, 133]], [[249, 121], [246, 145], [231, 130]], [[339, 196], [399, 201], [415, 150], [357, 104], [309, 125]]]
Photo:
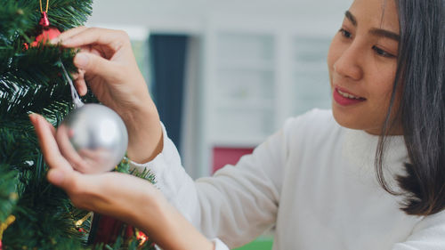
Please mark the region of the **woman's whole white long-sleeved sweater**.
[[[338, 125], [330, 110], [290, 118], [252, 155], [213, 177], [192, 179], [172, 141], [148, 167], [158, 188], [207, 238], [247, 244], [275, 227], [274, 250], [444, 250], [445, 212], [404, 214], [402, 198], [376, 181], [378, 137]], [[408, 161], [401, 136], [392, 136], [386, 176]], [[217, 241], [216, 250], [227, 249]]]

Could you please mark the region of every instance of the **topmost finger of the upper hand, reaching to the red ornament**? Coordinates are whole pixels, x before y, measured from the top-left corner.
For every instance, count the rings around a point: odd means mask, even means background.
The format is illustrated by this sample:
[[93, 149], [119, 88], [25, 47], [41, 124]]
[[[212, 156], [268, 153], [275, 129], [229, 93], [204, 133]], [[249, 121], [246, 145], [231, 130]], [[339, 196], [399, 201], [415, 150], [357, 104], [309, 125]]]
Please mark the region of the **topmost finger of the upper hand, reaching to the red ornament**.
[[129, 43], [128, 35], [121, 30], [106, 28], [86, 28], [63, 40], [62, 44], [67, 47], [80, 47], [86, 44], [108, 45], [117, 50], [124, 42]]

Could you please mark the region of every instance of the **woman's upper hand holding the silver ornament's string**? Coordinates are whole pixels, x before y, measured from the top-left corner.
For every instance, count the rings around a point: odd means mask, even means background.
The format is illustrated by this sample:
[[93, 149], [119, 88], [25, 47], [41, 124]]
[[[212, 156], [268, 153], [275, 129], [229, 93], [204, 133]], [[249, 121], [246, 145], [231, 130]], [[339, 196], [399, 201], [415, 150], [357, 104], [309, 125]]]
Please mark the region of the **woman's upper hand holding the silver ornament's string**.
[[87, 83], [101, 103], [122, 117], [128, 130], [128, 157], [138, 163], [156, 157], [162, 149], [158, 111], [126, 33], [78, 27], [63, 32], [52, 43], [81, 49], [74, 58], [81, 69], [75, 77], [77, 91], [85, 95]]

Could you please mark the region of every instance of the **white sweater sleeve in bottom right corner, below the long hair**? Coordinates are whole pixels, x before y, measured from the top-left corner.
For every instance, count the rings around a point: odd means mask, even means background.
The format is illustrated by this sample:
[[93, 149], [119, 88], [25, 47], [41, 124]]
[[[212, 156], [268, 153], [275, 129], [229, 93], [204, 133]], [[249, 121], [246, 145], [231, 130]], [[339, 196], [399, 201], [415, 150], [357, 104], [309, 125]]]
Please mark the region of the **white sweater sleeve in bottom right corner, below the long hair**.
[[445, 211], [426, 216], [417, 223], [406, 241], [392, 247], [392, 250], [443, 249], [445, 249]]

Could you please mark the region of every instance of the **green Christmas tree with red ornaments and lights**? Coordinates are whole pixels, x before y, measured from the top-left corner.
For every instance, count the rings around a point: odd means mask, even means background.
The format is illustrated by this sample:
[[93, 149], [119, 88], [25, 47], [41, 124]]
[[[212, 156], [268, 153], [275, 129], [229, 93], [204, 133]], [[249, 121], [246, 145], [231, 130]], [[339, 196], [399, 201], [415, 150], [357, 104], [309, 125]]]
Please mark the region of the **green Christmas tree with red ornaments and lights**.
[[[138, 239], [138, 230], [123, 223], [118, 223], [114, 242], [91, 244], [97, 233], [91, 227], [92, 213], [72, 206], [63, 190], [46, 181], [47, 166], [28, 119], [30, 113], [39, 113], [57, 126], [73, 109], [61, 63], [69, 72], [77, 72], [72, 63], [77, 51], [49, 44], [42, 34], [82, 25], [92, 12], [92, 0], [4, 0], [2, 4], [0, 250], [152, 249], [149, 241]], [[43, 13], [49, 27], [42, 23]], [[93, 94], [83, 101], [94, 101]], [[128, 173], [128, 164], [123, 161], [118, 170]], [[140, 177], [152, 181], [150, 173]], [[113, 225], [116, 230], [117, 224]]]

